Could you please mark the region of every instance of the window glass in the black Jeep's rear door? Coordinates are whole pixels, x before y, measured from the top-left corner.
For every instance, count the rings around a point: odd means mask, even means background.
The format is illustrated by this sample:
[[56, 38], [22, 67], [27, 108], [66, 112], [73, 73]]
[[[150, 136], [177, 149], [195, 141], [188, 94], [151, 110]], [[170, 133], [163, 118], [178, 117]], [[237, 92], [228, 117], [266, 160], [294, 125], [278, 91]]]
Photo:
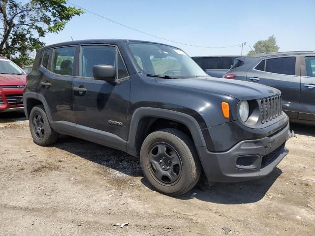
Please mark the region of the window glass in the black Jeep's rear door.
[[60, 75], [73, 74], [75, 47], [54, 49], [54, 57], [51, 71]]

